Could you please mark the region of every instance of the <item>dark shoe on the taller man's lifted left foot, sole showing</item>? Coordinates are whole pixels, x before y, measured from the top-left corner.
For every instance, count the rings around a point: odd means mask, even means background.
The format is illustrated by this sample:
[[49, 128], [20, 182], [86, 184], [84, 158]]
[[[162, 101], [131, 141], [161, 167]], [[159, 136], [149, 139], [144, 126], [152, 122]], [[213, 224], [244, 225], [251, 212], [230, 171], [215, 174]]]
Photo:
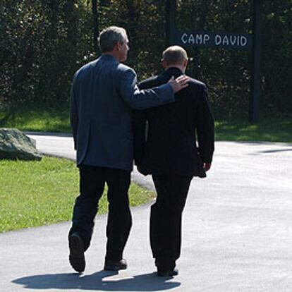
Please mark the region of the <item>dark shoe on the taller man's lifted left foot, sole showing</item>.
[[69, 262], [76, 272], [83, 272], [85, 269], [84, 243], [78, 233], [69, 236]]

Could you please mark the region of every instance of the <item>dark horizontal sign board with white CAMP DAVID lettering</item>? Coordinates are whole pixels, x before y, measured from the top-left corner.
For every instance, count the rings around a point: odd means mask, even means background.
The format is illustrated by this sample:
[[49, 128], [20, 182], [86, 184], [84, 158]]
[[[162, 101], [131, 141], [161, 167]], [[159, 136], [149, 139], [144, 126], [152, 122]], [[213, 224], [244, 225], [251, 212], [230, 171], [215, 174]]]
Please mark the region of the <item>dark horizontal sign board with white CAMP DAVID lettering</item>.
[[176, 40], [181, 46], [225, 49], [247, 49], [253, 42], [251, 35], [228, 32], [176, 32]]

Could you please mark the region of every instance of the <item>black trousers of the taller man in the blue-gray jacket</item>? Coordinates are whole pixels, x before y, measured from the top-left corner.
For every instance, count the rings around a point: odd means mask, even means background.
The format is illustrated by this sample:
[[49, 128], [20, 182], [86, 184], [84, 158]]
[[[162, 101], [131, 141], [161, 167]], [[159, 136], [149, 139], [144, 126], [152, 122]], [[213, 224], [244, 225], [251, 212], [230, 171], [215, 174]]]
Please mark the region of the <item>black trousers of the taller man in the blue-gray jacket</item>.
[[107, 217], [107, 255], [106, 260], [121, 260], [123, 249], [132, 226], [128, 188], [130, 171], [109, 169], [99, 166], [79, 166], [80, 195], [75, 200], [73, 224], [69, 236], [77, 232], [85, 243], [85, 250], [90, 246], [94, 219], [107, 183], [109, 214]]

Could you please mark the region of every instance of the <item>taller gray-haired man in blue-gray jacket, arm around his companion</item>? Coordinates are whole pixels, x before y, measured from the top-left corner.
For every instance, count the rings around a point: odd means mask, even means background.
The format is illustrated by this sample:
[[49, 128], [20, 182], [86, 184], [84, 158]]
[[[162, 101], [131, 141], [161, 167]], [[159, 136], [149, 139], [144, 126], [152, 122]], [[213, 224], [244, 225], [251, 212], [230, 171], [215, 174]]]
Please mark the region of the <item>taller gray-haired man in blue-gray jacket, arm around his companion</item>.
[[104, 269], [126, 269], [123, 249], [132, 224], [128, 188], [133, 170], [132, 109], [147, 109], [174, 102], [174, 93], [188, 86], [188, 78], [171, 78], [152, 90], [139, 90], [126, 61], [126, 30], [109, 27], [99, 35], [102, 56], [74, 75], [71, 90], [71, 127], [80, 195], [75, 200], [69, 231], [69, 261], [73, 269], [85, 269], [98, 202], [108, 185], [109, 214]]

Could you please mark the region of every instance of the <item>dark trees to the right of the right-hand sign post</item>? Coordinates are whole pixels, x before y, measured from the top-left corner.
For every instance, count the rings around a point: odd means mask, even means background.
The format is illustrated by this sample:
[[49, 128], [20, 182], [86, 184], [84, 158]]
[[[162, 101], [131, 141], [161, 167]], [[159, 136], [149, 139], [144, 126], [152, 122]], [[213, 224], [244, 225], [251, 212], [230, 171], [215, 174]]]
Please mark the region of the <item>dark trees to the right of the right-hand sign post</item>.
[[263, 106], [292, 112], [292, 1], [264, 1]]

